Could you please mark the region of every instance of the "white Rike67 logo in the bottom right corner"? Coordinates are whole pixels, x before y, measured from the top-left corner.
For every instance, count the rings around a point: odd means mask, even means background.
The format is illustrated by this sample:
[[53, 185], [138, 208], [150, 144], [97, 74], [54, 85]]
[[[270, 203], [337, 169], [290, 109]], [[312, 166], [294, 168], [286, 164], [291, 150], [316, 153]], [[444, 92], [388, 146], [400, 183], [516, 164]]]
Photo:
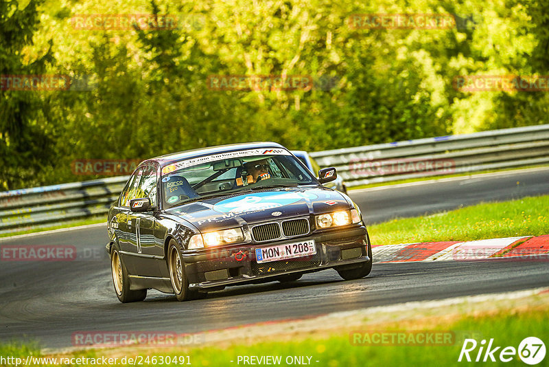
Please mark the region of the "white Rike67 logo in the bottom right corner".
[[525, 364], [535, 365], [543, 361], [545, 355], [545, 344], [537, 337], [524, 338], [518, 348], [496, 346], [493, 338], [489, 340], [488, 345], [486, 340], [478, 343], [474, 339], [466, 339], [461, 347], [458, 362], [496, 362], [498, 359], [500, 362], [511, 362], [517, 358]]

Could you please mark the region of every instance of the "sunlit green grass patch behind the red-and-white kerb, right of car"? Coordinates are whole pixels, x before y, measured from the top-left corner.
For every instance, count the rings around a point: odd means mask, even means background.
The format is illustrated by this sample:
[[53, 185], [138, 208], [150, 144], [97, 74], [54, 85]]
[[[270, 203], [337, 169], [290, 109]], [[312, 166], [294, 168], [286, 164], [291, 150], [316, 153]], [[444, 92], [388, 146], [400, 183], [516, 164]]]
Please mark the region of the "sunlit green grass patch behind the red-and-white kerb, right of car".
[[549, 234], [549, 195], [394, 219], [369, 226], [373, 245], [434, 241], [474, 241]]

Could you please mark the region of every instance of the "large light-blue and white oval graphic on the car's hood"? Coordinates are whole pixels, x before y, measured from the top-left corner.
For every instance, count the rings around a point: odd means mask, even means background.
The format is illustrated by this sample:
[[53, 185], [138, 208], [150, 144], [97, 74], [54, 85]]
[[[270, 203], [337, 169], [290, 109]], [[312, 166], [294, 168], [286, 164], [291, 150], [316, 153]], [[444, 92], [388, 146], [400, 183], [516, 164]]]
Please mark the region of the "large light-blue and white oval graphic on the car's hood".
[[279, 208], [290, 205], [303, 199], [318, 199], [316, 194], [310, 192], [257, 192], [257, 194], [234, 197], [220, 201], [213, 205], [213, 210], [220, 213], [241, 214]]

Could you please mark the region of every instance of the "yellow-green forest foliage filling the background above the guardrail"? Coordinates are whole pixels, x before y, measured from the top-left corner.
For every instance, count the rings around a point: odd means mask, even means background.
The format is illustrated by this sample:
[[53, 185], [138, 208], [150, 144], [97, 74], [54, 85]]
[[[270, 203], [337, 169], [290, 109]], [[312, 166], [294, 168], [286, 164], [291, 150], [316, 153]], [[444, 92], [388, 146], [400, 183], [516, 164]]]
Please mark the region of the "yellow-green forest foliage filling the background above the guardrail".
[[[1, 91], [0, 161], [12, 167], [2, 171], [5, 188], [95, 178], [73, 175], [73, 159], [261, 140], [319, 151], [547, 122], [547, 93], [462, 92], [452, 80], [547, 75], [548, 0], [44, 0], [17, 12], [1, 4], [1, 74], [89, 82]], [[353, 14], [380, 13], [456, 14], [457, 27], [349, 25]], [[82, 14], [170, 14], [177, 26], [80, 29]], [[229, 75], [307, 76], [313, 87], [209, 84]], [[14, 170], [21, 162], [23, 173]]]

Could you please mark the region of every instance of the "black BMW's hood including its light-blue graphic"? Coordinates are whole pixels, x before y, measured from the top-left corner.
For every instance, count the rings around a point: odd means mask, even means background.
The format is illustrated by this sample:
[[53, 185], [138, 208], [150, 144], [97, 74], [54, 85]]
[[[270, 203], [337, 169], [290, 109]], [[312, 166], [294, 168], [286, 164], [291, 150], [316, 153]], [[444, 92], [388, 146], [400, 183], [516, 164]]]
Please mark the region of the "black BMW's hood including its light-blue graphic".
[[167, 213], [189, 221], [201, 232], [208, 232], [347, 210], [351, 205], [340, 192], [327, 188], [281, 188], [193, 201], [171, 208]]

